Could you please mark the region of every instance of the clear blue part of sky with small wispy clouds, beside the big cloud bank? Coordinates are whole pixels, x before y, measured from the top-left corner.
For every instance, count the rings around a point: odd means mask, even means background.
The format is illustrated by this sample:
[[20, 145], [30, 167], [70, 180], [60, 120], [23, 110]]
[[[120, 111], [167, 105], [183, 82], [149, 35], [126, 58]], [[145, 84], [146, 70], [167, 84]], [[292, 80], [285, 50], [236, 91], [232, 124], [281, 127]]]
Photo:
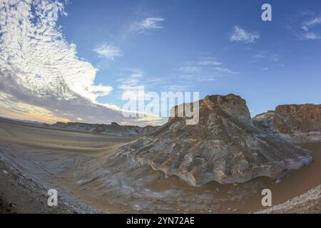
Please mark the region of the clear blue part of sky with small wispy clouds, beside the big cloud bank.
[[[265, 3], [272, 21], [261, 20]], [[98, 70], [93, 83], [108, 86], [100, 104], [121, 107], [137, 85], [200, 98], [235, 93], [252, 115], [321, 103], [320, 1], [69, 0], [63, 11], [54, 27]]]

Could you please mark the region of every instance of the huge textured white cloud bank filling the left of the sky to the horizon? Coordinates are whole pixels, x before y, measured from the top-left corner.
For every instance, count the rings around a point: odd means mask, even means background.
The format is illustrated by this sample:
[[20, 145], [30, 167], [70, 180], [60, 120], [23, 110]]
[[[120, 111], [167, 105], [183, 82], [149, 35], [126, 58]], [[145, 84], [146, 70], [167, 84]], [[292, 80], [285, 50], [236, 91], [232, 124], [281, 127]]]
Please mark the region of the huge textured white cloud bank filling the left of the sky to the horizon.
[[98, 103], [113, 88], [94, 83], [98, 69], [78, 58], [76, 45], [57, 28], [63, 8], [59, 1], [0, 1], [0, 111], [29, 119], [146, 124]]

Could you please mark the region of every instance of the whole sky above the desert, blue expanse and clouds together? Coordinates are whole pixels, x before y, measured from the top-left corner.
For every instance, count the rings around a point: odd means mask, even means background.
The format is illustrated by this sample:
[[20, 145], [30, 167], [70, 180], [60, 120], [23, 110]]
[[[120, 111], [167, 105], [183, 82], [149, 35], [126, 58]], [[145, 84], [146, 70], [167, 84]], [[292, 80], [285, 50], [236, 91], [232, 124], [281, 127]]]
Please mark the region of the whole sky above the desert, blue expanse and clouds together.
[[234, 93], [254, 116], [321, 103], [320, 69], [319, 0], [0, 0], [4, 117], [164, 123], [122, 115], [137, 86]]

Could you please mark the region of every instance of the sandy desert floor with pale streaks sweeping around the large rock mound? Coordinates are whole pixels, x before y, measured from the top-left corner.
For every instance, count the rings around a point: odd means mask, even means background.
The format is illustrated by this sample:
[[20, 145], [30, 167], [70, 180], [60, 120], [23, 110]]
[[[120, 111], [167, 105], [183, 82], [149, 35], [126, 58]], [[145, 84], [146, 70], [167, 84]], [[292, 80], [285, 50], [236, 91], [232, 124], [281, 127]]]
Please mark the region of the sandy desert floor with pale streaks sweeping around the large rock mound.
[[[321, 142], [302, 145], [314, 161], [280, 181], [259, 177], [238, 185], [191, 187], [150, 167], [112, 170], [108, 157], [131, 140], [1, 120], [0, 212], [248, 213], [265, 209], [265, 188], [272, 190], [275, 205], [321, 184]], [[56, 208], [46, 204], [51, 188], [58, 190]]]

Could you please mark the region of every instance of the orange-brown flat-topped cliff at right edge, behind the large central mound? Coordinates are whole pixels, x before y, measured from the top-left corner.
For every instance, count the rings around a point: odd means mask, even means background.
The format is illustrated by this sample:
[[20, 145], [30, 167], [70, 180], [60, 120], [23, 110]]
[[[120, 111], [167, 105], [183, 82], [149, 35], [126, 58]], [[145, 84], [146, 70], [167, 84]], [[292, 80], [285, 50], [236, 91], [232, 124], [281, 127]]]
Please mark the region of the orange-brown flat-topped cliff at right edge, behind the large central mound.
[[277, 106], [273, 122], [280, 133], [321, 132], [321, 105]]

